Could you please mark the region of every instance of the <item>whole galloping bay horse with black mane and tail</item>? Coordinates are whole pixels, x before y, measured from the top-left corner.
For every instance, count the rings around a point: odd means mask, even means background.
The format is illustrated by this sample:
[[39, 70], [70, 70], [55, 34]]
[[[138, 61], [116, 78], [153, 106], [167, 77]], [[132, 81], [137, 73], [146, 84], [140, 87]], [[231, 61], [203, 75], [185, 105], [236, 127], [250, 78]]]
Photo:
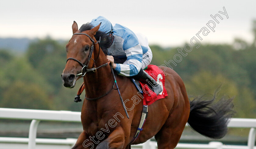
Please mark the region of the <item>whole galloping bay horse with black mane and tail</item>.
[[[76, 80], [83, 76], [86, 92], [81, 111], [84, 131], [72, 149], [130, 149], [132, 144], [143, 143], [152, 137], [155, 137], [158, 149], [173, 149], [187, 122], [195, 131], [210, 138], [222, 138], [227, 133], [227, 124], [233, 115], [232, 99], [215, 102], [215, 98], [198, 98], [190, 101], [180, 76], [171, 68], [162, 66], [160, 69], [166, 74], [168, 96], [148, 106], [143, 131], [131, 144], [140, 123], [143, 96], [138, 95], [129, 77], [116, 76], [123, 99], [129, 99], [125, 103], [127, 111], [133, 107], [128, 111], [128, 119], [118, 91], [112, 89], [114, 79], [110, 65], [103, 66], [108, 63], [104, 52], [107, 50], [104, 45], [107, 35], [98, 31], [99, 27], [100, 24], [92, 27], [87, 23], [78, 30], [74, 21], [73, 36], [66, 45], [67, 63], [62, 73], [63, 85], [73, 88]], [[96, 42], [99, 37], [102, 46]], [[77, 75], [81, 71], [82, 75]], [[134, 95], [137, 95], [136, 101], [132, 100]], [[89, 100], [93, 98], [95, 100]]]

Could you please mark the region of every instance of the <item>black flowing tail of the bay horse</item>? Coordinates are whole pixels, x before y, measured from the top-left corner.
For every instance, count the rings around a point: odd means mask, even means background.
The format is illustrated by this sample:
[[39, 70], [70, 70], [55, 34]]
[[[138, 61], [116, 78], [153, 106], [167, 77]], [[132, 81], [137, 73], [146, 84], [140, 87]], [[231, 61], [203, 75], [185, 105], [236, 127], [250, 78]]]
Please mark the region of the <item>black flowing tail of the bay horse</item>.
[[233, 107], [233, 98], [195, 98], [190, 101], [188, 124], [206, 137], [220, 139], [226, 135], [229, 120], [235, 114]]

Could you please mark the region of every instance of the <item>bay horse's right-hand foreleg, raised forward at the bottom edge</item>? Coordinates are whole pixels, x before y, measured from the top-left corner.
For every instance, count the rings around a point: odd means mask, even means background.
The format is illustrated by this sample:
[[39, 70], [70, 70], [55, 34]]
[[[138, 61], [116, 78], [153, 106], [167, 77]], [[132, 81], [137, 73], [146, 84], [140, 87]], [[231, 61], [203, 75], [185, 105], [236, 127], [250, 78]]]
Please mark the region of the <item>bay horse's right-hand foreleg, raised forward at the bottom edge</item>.
[[123, 149], [125, 134], [122, 127], [116, 128], [106, 140], [102, 141], [96, 149]]

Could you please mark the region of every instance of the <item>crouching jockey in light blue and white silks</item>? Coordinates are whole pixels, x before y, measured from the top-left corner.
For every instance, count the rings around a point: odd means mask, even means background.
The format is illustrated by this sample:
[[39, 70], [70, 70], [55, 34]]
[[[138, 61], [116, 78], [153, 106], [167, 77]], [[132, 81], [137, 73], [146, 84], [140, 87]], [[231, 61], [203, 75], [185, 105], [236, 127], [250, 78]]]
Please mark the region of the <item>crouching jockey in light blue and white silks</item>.
[[[157, 95], [162, 91], [161, 86], [146, 71], [152, 60], [152, 52], [148, 46], [148, 39], [123, 25], [112, 26], [106, 18], [99, 16], [91, 21], [92, 26], [100, 25], [99, 30], [109, 33], [112, 45], [108, 48], [107, 59], [111, 62], [113, 69], [118, 75], [132, 77], [148, 85]], [[116, 58], [124, 59], [122, 64], [114, 62]]]

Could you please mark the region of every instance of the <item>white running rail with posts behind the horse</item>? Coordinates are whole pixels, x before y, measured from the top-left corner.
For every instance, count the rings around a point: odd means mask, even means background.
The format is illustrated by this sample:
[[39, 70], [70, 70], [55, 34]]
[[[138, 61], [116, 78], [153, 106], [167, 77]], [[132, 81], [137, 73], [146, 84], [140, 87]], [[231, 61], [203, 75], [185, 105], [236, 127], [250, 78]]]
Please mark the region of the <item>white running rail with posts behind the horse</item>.
[[[0, 142], [28, 142], [28, 149], [34, 149], [36, 142], [47, 143], [52, 142], [61, 144], [63, 139], [36, 139], [37, 126], [40, 121], [68, 121], [81, 122], [81, 112], [73, 111], [52, 111], [52, 110], [31, 110], [31, 109], [12, 109], [0, 108], [0, 119], [19, 119], [31, 120], [29, 129], [29, 138], [15, 138], [0, 137]], [[188, 126], [188, 125], [186, 125]], [[210, 142], [209, 144], [178, 144], [176, 148], [190, 148], [190, 149], [255, 149], [255, 135], [256, 135], [256, 119], [249, 118], [233, 118], [228, 127], [251, 128], [247, 146], [239, 145], [223, 145], [221, 142]], [[59, 143], [58, 143], [59, 142]], [[74, 139], [66, 141], [67, 144], [73, 145]], [[147, 141], [144, 144], [134, 145], [143, 149], [156, 149], [156, 142]]]

